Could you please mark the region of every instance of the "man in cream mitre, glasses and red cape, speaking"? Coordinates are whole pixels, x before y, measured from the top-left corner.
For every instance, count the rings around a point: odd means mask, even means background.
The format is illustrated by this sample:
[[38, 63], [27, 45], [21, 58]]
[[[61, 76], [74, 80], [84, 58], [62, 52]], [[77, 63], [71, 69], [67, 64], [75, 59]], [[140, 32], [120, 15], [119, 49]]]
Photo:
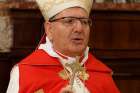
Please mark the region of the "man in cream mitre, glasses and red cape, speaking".
[[7, 93], [119, 93], [111, 70], [88, 53], [92, 0], [36, 0], [46, 42], [14, 66]]

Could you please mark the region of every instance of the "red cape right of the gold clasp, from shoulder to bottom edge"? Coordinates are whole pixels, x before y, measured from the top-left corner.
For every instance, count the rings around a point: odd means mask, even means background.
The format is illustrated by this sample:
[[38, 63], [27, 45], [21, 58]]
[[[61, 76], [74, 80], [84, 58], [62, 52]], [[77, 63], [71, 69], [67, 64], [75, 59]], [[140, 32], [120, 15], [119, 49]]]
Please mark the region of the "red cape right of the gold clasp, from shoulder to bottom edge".
[[87, 68], [94, 75], [95, 83], [98, 83], [99, 87], [106, 89], [104, 90], [106, 93], [120, 93], [112, 78], [112, 70], [90, 53]]

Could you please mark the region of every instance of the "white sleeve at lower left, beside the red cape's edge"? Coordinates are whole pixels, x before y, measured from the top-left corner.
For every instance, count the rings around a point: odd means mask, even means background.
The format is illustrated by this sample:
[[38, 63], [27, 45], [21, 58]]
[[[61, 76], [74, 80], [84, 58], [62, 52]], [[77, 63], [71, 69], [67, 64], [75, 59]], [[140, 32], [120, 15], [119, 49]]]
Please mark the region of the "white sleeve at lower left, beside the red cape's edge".
[[15, 65], [10, 74], [10, 82], [6, 93], [18, 93], [19, 91], [19, 68]]

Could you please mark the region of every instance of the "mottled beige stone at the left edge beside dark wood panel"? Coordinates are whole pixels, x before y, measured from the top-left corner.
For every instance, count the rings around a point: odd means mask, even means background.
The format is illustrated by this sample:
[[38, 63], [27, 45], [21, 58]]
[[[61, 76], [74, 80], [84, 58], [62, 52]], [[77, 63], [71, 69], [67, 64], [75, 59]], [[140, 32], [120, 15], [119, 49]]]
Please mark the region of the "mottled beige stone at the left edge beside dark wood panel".
[[6, 11], [0, 11], [0, 52], [9, 52], [13, 42], [13, 30]]

